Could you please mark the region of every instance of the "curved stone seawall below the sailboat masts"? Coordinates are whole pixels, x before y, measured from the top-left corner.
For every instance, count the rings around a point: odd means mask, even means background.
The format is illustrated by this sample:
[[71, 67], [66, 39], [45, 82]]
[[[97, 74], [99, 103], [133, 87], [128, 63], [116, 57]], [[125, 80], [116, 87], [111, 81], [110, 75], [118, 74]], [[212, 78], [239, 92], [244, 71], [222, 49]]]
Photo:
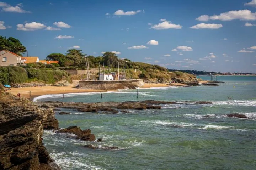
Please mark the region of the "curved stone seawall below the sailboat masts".
[[136, 89], [144, 85], [143, 79], [137, 80], [106, 80], [106, 81], [79, 81], [81, 89], [117, 90]]

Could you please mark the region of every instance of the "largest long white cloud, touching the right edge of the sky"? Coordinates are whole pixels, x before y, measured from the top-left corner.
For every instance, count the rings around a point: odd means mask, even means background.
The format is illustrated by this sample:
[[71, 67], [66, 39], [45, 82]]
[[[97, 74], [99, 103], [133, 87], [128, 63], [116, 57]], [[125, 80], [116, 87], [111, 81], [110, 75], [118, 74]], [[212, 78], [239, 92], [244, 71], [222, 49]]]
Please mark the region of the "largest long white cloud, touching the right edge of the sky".
[[220, 15], [201, 15], [200, 17], [196, 18], [199, 21], [209, 21], [211, 20], [221, 20], [221, 21], [231, 21], [234, 19], [239, 20], [256, 20], [256, 12], [251, 12], [250, 10], [239, 10], [239, 11], [228, 11], [221, 13]]

